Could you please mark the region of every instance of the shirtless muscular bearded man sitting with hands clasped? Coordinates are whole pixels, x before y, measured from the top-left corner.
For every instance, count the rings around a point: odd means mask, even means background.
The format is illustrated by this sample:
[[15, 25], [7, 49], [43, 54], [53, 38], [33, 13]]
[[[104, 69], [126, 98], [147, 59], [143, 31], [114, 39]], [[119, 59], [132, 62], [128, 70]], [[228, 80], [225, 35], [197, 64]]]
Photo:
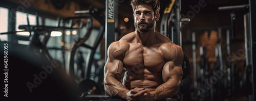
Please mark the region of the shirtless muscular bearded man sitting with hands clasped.
[[[155, 30], [158, 0], [132, 0], [136, 30], [108, 49], [105, 91], [127, 100], [160, 100], [178, 93], [183, 51]], [[122, 82], [122, 83], [121, 83]]]

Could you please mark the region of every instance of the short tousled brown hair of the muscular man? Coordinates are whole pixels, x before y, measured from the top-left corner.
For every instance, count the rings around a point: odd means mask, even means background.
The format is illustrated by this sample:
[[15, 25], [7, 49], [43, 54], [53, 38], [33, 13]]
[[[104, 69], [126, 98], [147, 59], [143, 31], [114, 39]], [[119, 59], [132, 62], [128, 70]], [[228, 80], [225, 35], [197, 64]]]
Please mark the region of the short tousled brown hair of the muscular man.
[[131, 5], [133, 7], [133, 12], [139, 5], [143, 4], [152, 6], [154, 15], [158, 14], [160, 11], [160, 2], [158, 0], [132, 0]]

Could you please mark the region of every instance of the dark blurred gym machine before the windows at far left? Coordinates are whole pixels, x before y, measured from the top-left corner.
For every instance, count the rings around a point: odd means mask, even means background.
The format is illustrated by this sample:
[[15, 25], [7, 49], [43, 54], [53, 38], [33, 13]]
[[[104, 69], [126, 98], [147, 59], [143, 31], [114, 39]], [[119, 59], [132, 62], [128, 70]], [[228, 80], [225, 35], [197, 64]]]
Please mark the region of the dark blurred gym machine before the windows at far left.
[[[28, 16], [27, 16], [27, 22], [28, 22], [28, 25], [19, 25], [18, 27], [19, 29], [25, 29], [23, 31], [30, 32], [30, 36], [29, 36], [30, 44], [28, 45], [27, 49], [33, 50], [33, 52], [37, 53], [37, 55], [39, 55], [39, 57], [41, 58], [44, 58], [48, 61], [53, 61], [53, 58], [48, 52], [48, 48], [46, 47], [46, 44], [51, 35], [50, 33], [52, 31], [57, 31], [62, 29], [72, 29], [72, 28], [60, 27], [60, 26], [56, 26], [56, 27], [44, 26], [44, 25], [39, 26], [37, 13], [36, 13], [36, 25], [30, 25]], [[23, 31], [10, 31], [10, 32], [1, 33], [1, 35], [10, 34], [10, 33], [15, 34], [16, 32], [23, 32]], [[32, 32], [33, 32], [33, 35], [31, 34]], [[45, 34], [46, 32], [48, 32], [49, 34], [46, 35]], [[39, 38], [41, 35], [44, 36], [44, 39], [42, 41], [40, 41], [40, 38]], [[62, 54], [62, 55], [65, 55], [65, 54]]]

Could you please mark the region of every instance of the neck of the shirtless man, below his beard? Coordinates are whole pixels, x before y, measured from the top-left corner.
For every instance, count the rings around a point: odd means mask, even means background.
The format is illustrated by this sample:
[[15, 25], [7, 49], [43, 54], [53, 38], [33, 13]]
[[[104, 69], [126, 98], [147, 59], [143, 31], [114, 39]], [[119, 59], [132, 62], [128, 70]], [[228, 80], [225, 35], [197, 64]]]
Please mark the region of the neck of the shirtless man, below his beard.
[[156, 31], [151, 29], [147, 32], [139, 32], [137, 29], [135, 31], [136, 40], [140, 42], [143, 46], [149, 46], [155, 44], [156, 41]]

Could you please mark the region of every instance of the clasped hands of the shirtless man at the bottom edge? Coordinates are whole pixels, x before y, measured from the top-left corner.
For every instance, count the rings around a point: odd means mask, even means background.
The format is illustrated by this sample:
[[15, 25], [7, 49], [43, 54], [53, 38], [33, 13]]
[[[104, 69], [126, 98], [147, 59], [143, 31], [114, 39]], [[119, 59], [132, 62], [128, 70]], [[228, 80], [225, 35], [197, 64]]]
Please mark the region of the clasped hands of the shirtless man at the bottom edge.
[[127, 100], [153, 100], [150, 92], [145, 88], [134, 88], [130, 90], [127, 94]]

